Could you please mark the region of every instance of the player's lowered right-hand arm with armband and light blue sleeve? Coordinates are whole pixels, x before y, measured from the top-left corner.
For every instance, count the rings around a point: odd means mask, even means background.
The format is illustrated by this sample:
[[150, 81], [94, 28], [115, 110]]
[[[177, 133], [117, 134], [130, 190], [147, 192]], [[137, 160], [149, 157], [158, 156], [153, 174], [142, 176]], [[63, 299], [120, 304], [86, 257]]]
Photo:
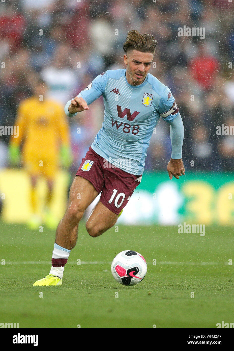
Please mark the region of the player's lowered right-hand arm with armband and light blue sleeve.
[[167, 165], [169, 178], [174, 176], [176, 179], [185, 174], [185, 168], [182, 161], [182, 146], [184, 140], [184, 125], [179, 113], [179, 108], [175, 103], [170, 90], [166, 87], [159, 103], [160, 116], [170, 123], [171, 138], [171, 159]]

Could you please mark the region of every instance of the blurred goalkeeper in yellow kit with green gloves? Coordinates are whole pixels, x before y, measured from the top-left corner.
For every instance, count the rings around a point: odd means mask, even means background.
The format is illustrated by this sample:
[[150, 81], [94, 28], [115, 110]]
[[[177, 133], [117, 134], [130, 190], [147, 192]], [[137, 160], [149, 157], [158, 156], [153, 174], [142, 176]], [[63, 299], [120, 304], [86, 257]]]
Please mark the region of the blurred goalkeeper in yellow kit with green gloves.
[[[12, 137], [9, 157], [13, 165], [22, 164], [31, 179], [30, 201], [32, 216], [29, 226], [38, 228], [42, 218], [37, 213], [36, 183], [40, 176], [47, 180], [45, 221], [53, 228], [57, 225], [49, 211], [56, 172], [62, 166], [69, 167], [72, 161], [69, 127], [63, 106], [46, 98], [47, 85], [37, 82], [35, 94], [19, 105], [15, 125], [19, 126], [19, 137]], [[21, 149], [22, 146], [22, 149]]]

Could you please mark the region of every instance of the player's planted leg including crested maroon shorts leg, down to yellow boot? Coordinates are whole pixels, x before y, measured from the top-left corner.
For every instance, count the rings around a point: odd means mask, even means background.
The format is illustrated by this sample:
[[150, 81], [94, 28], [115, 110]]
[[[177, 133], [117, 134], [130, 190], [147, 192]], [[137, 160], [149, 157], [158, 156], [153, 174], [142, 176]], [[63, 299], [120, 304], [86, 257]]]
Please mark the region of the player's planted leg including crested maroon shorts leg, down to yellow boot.
[[[66, 213], [58, 224], [49, 276], [34, 285], [61, 285], [64, 265], [76, 245], [78, 224], [86, 208], [102, 191], [105, 180], [99, 156], [89, 148], [70, 188]], [[103, 162], [102, 162], [103, 163]]]

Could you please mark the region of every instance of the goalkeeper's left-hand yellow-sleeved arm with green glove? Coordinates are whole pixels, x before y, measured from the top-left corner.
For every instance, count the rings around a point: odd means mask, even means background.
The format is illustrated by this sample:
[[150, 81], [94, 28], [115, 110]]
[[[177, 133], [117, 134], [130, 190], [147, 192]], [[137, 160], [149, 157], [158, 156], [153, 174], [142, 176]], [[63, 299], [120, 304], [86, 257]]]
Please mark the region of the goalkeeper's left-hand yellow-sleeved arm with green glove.
[[9, 143], [9, 159], [11, 164], [17, 165], [20, 163], [20, 144], [23, 140], [26, 126], [25, 104], [23, 102], [19, 105], [14, 124], [18, 128], [19, 133], [17, 137], [11, 135]]

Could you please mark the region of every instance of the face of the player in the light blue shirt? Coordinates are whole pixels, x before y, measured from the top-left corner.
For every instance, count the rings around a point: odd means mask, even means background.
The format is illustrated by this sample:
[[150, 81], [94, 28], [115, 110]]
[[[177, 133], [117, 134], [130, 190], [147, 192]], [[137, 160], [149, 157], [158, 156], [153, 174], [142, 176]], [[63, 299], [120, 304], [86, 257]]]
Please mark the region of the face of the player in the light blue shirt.
[[153, 54], [130, 50], [124, 55], [126, 79], [131, 85], [139, 85], [144, 81], [153, 61]]

